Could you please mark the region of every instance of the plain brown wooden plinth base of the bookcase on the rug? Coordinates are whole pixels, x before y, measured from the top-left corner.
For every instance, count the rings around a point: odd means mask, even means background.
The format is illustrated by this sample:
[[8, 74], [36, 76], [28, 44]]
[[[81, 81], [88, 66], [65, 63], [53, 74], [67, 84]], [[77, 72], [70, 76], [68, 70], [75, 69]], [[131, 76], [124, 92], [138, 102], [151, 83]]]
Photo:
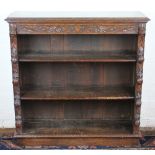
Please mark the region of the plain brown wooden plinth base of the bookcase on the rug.
[[134, 147], [139, 145], [139, 135], [133, 137], [121, 135], [119, 137], [36, 137], [36, 136], [16, 136], [16, 143], [25, 148], [44, 148], [47, 146], [114, 146], [114, 147]]

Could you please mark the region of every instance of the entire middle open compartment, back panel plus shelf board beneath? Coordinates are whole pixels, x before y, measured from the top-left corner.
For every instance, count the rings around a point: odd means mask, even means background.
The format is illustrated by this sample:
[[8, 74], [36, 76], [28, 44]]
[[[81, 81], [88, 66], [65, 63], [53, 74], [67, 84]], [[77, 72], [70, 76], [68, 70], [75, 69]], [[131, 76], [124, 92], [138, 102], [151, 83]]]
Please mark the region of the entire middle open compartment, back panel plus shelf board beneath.
[[23, 100], [133, 99], [135, 63], [20, 63]]

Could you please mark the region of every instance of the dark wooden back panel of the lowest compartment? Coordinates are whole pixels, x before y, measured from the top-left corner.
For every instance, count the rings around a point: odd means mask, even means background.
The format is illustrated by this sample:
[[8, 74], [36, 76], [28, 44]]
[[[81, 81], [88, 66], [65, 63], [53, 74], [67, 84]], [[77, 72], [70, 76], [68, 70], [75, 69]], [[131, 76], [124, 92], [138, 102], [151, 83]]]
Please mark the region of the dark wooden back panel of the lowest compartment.
[[133, 103], [124, 101], [22, 101], [24, 120], [131, 120]]

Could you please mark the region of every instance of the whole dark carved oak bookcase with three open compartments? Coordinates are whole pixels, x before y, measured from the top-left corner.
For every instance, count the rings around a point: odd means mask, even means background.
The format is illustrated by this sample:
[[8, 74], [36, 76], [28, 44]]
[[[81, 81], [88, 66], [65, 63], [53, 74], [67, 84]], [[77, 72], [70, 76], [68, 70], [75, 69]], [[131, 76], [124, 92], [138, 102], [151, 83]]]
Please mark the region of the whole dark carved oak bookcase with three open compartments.
[[17, 143], [138, 145], [147, 17], [17, 12], [6, 21]]

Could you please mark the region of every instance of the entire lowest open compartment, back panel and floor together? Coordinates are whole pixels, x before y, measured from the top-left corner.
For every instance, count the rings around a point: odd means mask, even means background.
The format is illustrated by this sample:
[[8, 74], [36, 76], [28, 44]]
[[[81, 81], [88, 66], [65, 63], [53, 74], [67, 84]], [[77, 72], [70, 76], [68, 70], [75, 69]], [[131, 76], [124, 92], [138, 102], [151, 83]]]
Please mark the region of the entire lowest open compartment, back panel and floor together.
[[130, 133], [133, 102], [22, 101], [23, 132], [27, 134]]

